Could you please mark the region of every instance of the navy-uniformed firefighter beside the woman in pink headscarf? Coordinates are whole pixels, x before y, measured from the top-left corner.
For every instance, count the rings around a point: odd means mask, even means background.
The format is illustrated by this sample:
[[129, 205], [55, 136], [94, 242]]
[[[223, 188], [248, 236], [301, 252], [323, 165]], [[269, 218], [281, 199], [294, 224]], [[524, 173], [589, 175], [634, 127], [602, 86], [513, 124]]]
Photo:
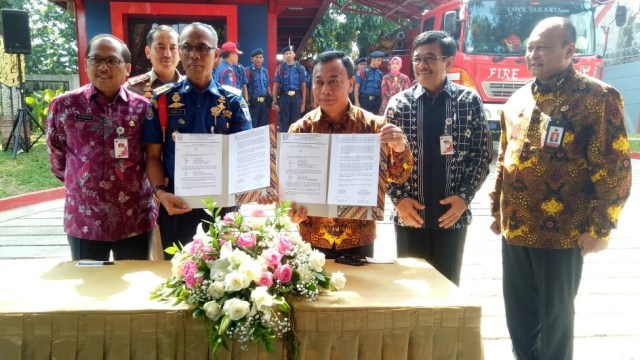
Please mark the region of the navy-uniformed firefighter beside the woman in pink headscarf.
[[364, 70], [356, 71], [356, 86], [354, 98], [356, 106], [377, 114], [382, 105], [382, 71], [379, 67], [382, 64], [384, 53], [374, 51], [371, 53], [371, 63]]

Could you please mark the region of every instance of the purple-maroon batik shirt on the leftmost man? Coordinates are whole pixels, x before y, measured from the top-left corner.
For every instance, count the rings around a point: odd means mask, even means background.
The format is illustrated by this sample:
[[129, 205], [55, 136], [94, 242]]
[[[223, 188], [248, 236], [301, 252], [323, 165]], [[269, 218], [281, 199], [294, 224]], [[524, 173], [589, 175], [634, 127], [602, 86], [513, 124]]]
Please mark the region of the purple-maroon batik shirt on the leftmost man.
[[[91, 84], [51, 101], [47, 145], [51, 171], [64, 182], [68, 235], [116, 241], [153, 229], [141, 142], [148, 104], [124, 88], [109, 103]], [[128, 158], [115, 156], [118, 137], [127, 140]]]

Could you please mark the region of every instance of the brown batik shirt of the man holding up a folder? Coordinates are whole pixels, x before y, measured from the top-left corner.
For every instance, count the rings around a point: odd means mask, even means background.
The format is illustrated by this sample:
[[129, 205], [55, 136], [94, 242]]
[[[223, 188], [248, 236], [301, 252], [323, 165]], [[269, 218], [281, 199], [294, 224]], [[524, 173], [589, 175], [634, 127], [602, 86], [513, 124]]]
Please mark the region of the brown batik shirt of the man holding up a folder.
[[[382, 118], [350, 106], [339, 123], [330, 122], [320, 108], [307, 113], [302, 119], [291, 125], [290, 133], [321, 134], [376, 134], [384, 125]], [[378, 211], [384, 212], [384, 188], [387, 183], [402, 183], [409, 178], [413, 168], [413, 157], [409, 146], [405, 151], [396, 153], [386, 144], [382, 144], [380, 157], [380, 175], [378, 185], [382, 191], [378, 194]], [[311, 245], [331, 249], [348, 249], [371, 244], [376, 238], [374, 220], [354, 220], [309, 216], [298, 224], [300, 236]]]

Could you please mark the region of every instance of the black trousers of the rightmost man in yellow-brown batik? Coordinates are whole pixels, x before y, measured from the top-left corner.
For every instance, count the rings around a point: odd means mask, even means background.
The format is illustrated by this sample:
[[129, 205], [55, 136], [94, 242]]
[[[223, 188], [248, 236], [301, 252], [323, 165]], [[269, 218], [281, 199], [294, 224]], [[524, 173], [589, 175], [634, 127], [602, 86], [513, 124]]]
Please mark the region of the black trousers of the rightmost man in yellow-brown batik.
[[502, 239], [504, 305], [516, 359], [573, 358], [582, 264], [579, 248], [528, 248]]

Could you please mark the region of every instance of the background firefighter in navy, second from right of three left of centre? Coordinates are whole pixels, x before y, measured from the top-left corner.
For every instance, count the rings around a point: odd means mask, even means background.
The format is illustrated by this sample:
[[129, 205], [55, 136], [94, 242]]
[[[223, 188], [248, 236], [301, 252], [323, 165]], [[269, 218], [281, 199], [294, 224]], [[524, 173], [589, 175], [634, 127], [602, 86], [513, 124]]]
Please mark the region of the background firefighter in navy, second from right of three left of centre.
[[251, 62], [246, 69], [249, 84], [247, 91], [249, 93], [249, 111], [253, 127], [264, 126], [269, 124], [269, 108], [273, 98], [271, 97], [271, 88], [269, 87], [269, 72], [262, 66], [264, 64], [264, 51], [257, 48], [251, 52]]

